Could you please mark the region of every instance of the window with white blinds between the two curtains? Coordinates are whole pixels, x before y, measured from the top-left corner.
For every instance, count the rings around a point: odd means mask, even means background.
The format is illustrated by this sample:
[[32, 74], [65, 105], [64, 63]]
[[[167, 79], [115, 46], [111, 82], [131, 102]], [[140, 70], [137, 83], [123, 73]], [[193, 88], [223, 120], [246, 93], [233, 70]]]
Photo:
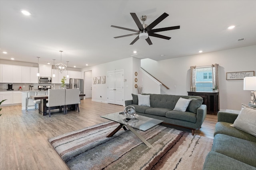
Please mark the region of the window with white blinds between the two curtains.
[[212, 92], [212, 67], [196, 67], [196, 91]]

